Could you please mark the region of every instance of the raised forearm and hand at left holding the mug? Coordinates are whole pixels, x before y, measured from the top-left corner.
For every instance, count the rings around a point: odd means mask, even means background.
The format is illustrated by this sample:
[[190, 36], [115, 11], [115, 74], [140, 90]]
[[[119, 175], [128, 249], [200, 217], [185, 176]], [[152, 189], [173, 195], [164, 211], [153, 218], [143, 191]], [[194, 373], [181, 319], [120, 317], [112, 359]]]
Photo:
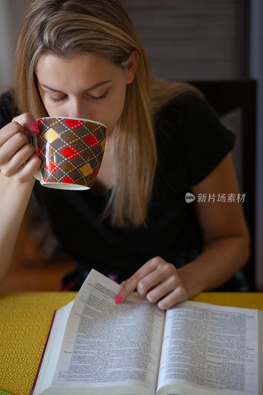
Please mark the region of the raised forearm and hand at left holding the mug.
[[29, 134], [36, 133], [32, 127], [35, 122], [33, 115], [26, 113], [0, 129], [0, 282], [10, 266], [36, 181], [33, 174], [41, 163], [29, 143]]

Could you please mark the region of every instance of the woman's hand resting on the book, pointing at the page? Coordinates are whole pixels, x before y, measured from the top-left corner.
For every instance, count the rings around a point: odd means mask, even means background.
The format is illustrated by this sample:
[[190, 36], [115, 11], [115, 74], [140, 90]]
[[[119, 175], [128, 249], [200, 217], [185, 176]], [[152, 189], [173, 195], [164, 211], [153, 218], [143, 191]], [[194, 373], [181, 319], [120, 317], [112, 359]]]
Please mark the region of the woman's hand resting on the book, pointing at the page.
[[160, 256], [150, 259], [120, 285], [123, 288], [119, 292], [122, 297], [119, 298], [119, 302], [124, 301], [137, 287], [137, 293], [141, 298], [146, 297], [149, 302], [157, 303], [161, 310], [169, 309], [175, 303], [192, 297], [180, 272], [172, 263], [166, 262]]

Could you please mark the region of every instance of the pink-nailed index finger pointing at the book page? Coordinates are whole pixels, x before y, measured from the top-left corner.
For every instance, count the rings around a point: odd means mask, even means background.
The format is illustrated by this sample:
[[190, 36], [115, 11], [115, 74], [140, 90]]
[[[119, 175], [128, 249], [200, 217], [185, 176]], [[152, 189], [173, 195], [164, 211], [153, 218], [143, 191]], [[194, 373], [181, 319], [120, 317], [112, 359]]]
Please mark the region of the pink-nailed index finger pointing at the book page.
[[137, 287], [138, 282], [149, 275], [153, 270], [156, 269], [156, 264], [154, 263], [154, 258], [146, 262], [140, 269], [137, 270], [130, 278], [125, 280], [125, 284], [116, 297], [115, 303], [118, 304], [123, 302]]

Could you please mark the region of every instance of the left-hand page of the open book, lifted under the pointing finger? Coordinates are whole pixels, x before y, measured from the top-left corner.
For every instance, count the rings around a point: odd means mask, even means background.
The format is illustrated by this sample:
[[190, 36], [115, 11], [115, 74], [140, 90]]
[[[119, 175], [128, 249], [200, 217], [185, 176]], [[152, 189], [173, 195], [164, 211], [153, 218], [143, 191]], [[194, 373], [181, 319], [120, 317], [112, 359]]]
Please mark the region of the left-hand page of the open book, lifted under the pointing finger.
[[[72, 307], [52, 385], [156, 390], [164, 311], [92, 269]], [[148, 392], [146, 392], [148, 393]]]

